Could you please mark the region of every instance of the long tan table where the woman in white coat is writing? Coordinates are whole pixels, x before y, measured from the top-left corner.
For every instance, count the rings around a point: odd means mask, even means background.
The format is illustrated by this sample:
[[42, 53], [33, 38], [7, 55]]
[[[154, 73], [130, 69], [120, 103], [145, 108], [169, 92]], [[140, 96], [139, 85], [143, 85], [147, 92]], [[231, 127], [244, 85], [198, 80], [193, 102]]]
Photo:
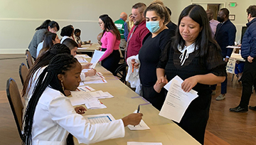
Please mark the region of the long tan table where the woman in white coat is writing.
[[[149, 102], [146, 102], [144, 98], [139, 97], [137, 93], [127, 87], [127, 85], [124, 85], [112, 73], [102, 68], [101, 65], [97, 65], [96, 70], [104, 75], [107, 83], [89, 84], [89, 86], [95, 90], [110, 92], [114, 98], [100, 100], [107, 106], [106, 109], [87, 109], [84, 115], [112, 114], [115, 119], [120, 119], [134, 112], [138, 105], [141, 104], [140, 112], [143, 114], [142, 119], [150, 129], [131, 131], [128, 127], [125, 127], [124, 138], [101, 141], [95, 145], [127, 145], [127, 141], [161, 142], [164, 145], [199, 144], [196, 139], [193, 139], [193, 137], [170, 119], [159, 116], [159, 110], [155, 109]], [[77, 139], [74, 138], [74, 141], [75, 144], [78, 144]]]

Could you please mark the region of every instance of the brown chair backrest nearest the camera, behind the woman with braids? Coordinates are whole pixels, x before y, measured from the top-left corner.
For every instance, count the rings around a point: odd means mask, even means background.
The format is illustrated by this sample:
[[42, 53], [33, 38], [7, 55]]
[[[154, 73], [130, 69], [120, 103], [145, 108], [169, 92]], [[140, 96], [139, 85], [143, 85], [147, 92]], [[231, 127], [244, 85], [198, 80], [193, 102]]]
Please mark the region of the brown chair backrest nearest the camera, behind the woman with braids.
[[21, 95], [18, 91], [18, 86], [14, 79], [9, 78], [6, 83], [6, 94], [9, 100], [9, 104], [11, 106], [11, 111], [14, 114], [14, 119], [16, 122], [16, 126], [18, 128], [18, 134], [23, 140], [22, 137], [22, 117], [23, 117], [23, 104], [21, 101]]

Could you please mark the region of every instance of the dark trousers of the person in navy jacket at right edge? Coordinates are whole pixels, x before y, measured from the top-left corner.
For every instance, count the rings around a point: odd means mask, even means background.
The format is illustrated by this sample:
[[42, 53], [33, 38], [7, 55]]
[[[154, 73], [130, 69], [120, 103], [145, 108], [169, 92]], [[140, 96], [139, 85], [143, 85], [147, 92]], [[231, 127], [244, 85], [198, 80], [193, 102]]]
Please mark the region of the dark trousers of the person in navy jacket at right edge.
[[244, 73], [242, 74], [242, 97], [240, 107], [248, 107], [252, 95], [252, 85], [256, 86], [256, 60], [252, 63], [245, 61]]

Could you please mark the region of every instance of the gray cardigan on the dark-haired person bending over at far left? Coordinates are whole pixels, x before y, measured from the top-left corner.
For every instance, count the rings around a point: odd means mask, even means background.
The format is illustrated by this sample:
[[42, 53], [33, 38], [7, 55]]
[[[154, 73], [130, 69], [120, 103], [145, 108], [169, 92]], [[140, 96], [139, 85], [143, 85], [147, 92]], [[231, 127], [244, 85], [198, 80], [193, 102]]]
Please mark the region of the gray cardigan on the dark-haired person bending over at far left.
[[28, 45], [29, 52], [31, 53], [31, 56], [33, 58], [36, 58], [36, 48], [38, 44], [43, 41], [43, 34], [46, 33], [46, 31], [48, 31], [47, 28], [42, 28], [36, 31], [36, 33], [34, 34], [31, 40], [31, 43], [29, 43]]

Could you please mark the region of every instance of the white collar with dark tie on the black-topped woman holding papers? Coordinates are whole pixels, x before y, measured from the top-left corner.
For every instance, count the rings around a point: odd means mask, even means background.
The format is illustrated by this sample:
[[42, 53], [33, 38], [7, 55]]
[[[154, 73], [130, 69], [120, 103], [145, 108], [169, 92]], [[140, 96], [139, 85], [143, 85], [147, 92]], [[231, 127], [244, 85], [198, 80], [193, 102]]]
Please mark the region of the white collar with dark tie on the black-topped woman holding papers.
[[184, 48], [181, 48], [181, 45], [178, 45], [178, 50], [181, 52], [181, 55], [179, 57], [179, 59], [181, 60], [181, 66], [185, 63], [185, 60], [188, 58], [188, 54], [193, 53], [195, 51], [195, 47], [196, 50], [198, 50], [198, 47], [195, 46], [195, 43], [188, 45], [188, 46], [184, 46]]

